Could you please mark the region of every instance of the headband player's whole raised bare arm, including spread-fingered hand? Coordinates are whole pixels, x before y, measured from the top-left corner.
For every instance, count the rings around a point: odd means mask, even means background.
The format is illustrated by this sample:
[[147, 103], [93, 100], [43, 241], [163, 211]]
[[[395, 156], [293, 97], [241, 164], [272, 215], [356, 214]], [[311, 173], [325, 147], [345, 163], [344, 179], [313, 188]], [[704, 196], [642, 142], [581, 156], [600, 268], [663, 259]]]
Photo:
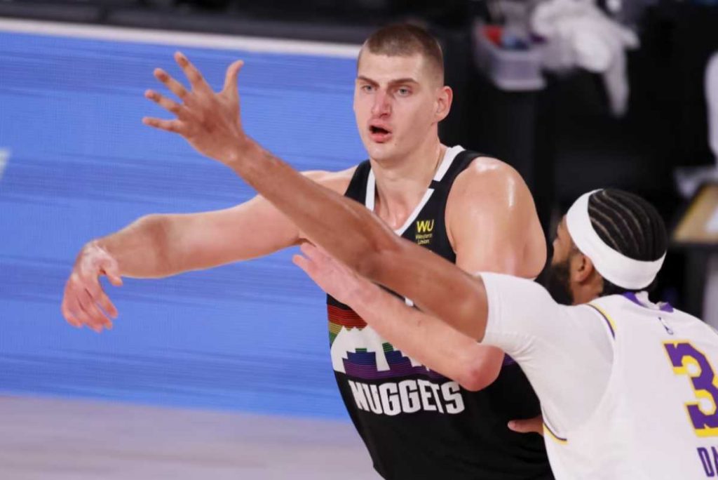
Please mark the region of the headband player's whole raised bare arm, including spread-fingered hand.
[[215, 93], [184, 55], [175, 58], [192, 89], [156, 70], [157, 78], [182, 103], [148, 91], [148, 98], [177, 119], [146, 118], [145, 124], [179, 133], [197, 151], [228, 165], [292, 218], [309, 239], [363, 276], [411, 298], [452, 325], [474, 326], [475, 338], [482, 338], [487, 307], [480, 279], [398, 238], [366, 208], [303, 177], [250, 139], [239, 118], [236, 84], [241, 62], [230, 65], [223, 91]]

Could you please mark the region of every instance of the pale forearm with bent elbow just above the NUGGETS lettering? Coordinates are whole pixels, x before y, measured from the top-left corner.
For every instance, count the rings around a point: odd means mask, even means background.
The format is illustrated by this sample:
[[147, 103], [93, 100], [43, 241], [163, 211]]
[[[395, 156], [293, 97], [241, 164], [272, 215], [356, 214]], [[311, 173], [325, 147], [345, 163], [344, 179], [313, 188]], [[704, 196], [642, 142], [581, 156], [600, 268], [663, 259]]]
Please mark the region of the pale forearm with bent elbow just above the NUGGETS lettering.
[[498, 377], [503, 363], [500, 349], [480, 345], [376, 285], [358, 290], [350, 307], [396, 349], [466, 389], [482, 389]]

